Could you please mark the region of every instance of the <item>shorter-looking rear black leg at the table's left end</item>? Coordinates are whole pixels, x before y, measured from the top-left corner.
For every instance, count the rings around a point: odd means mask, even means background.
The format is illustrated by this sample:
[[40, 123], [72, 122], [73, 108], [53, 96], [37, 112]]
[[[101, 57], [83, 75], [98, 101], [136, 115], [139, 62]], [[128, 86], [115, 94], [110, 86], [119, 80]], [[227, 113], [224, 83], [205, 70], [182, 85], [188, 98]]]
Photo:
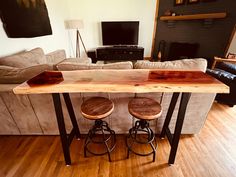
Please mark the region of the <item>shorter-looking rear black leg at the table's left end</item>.
[[65, 103], [66, 103], [68, 113], [70, 115], [70, 119], [71, 119], [71, 122], [72, 122], [72, 125], [73, 125], [73, 129], [75, 130], [75, 136], [76, 136], [77, 139], [79, 139], [81, 137], [81, 135], [80, 135], [80, 131], [79, 131], [77, 121], [76, 121], [75, 112], [74, 112], [74, 109], [73, 109], [73, 106], [72, 106], [72, 103], [71, 103], [70, 95], [69, 95], [69, 93], [63, 93], [63, 97], [64, 97], [64, 100], [65, 100]]

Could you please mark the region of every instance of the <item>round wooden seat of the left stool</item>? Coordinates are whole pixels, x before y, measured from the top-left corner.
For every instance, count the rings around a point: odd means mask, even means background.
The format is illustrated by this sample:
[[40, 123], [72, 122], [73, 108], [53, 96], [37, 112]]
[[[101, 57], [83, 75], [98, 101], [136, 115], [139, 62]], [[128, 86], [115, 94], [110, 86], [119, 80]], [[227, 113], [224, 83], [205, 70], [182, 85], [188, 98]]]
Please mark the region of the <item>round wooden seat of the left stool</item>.
[[92, 97], [83, 102], [81, 113], [87, 119], [98, 120], [109, 116], [114, 109], [111, 100], [104, 97]]

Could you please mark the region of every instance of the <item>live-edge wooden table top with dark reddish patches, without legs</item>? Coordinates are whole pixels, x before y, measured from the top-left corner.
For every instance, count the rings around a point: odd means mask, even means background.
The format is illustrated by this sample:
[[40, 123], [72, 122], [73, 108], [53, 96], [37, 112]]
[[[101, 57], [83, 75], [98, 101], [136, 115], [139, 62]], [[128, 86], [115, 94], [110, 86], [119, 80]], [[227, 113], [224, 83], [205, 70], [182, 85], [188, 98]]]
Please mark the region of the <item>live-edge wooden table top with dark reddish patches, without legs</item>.
[[15, 94], [71, 92], [229, 93], [229, 87], [200, 71], [158, 69], [45, 71], [13, 89]]

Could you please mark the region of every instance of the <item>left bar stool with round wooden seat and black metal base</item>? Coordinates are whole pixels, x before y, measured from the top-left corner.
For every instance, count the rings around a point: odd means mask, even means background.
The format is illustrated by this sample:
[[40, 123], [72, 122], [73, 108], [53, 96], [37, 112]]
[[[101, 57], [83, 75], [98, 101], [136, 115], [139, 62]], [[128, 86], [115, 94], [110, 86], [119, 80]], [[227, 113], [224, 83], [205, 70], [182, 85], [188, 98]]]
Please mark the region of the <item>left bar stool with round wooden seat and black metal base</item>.
[[[109, 161], [111, 162], [110, 152], [112, 152], [116, 144], [115, 131], [111, 130], [107, 122], [103, 121], [102, 119], [109, 116], [112, 113], [113, 109], [114, 103], [104, 97], [89, 98], [81, 105], [82, 115], [89, 120], [95, 120], [95, 124], [89, 130], [88, 135], [85, 139], [85, 157], [87, 156], [87, 151], [93, 155], [104, 155], [107, 153]], [[103, 144], [106, 147], [106, 151], [102, 153], [95, 153], [88, 147], [90, 144]]]

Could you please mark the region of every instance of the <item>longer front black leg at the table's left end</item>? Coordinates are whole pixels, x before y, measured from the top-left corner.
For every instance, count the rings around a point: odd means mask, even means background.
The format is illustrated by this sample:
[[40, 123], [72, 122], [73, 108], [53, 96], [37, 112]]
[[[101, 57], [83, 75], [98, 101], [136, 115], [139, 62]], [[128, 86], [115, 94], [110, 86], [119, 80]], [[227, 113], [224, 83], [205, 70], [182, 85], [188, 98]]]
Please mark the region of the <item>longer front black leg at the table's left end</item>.
[[53, 97], [53, 103], [54, 103], [54, 108], [55, 108], [56, 117], [57, 117], [57, 124], [58, 124], [60, 137], [61, 137], [61, 144], [62, 144], [62, 149], [64, 153], [64, 158], [66, 161], [66, 165], [71, 165], [70, 150], [69, 150], [70, 143], [67, 139], [60, 94], [52, 93], [52, 97]]

